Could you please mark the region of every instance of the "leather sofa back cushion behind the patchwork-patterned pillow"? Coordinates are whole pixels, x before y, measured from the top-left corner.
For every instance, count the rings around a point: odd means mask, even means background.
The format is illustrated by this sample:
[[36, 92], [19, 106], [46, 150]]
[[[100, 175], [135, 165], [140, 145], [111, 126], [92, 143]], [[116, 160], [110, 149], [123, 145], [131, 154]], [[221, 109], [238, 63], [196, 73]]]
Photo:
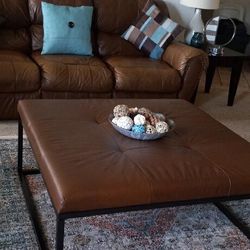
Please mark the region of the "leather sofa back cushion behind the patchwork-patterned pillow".
[[[143, 55], [132, 44], [121, 38], [126, 29], [139, 18], [146, 4], [153, 0], [93, 0], [95, 7], [94, 29], [97, 48], [101, 56]], [[159, 3], [158, 3], [159, 4]], [[160, 6], [168, 15], [166, 5]]]

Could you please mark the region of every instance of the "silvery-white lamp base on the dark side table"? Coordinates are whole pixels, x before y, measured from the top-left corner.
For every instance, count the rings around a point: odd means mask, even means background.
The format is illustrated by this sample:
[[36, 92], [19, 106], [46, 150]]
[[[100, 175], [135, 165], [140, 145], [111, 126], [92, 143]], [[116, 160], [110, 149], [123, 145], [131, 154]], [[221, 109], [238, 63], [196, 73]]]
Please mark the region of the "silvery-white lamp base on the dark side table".
[[201, 18], [201, 9], [195, 9], [194, 16], [189, 23], [188, 30], [185, 33], [185, 42], [191, 45], [191, 40], [195, 33], [201, 33], [204, 43], [204, 24]]

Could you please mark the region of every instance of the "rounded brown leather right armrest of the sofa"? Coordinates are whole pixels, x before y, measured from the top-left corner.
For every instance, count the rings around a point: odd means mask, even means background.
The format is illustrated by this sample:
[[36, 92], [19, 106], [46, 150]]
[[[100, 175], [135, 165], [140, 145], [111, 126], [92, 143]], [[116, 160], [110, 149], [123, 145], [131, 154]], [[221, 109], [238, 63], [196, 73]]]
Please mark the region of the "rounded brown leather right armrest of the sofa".
[[200, 50], [182, 43], [170, 44], [162, 60], [179, 71], [182, 88], [178, 97], [192, 101], [202, 74], [208, 67], [208, 55]]

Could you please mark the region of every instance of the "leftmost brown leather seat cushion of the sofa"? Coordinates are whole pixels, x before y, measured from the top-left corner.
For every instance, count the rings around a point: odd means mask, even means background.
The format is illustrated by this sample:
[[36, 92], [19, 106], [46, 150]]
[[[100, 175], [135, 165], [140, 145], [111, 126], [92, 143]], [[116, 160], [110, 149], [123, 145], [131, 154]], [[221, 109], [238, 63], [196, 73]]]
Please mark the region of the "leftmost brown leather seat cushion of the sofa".
[[40, 88], [37, 65], [25, 54], [0, 51], [0, 93], [24, 93]]

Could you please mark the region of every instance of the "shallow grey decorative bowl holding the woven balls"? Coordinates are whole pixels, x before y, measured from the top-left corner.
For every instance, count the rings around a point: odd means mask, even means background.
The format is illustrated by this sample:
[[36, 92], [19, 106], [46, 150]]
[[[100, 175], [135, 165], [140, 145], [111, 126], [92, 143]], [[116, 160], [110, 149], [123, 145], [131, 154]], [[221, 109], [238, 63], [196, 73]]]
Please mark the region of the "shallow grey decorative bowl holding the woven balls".
[[129, 138], [141, 140], [141, 141], [152, 141], [152, 140], [160, 139], [160, 138], [164, 137], [166, 134], [168, 134], [170, 131], [172, 131], [175, 127], [175, 122], [172, 119], [166, 119], [166, 123], [169, 126], [168, 132], [166, 132], [166, 133], [154, 133], [154, 134], [146, 134], [146, 133], [137, 134], [131, 130], [127, 130], [127, 129], [123, 129], [123, 128], [118, 127], [116, 124], [114, 124], [112, 122], [113, 118], [114, 118], [113, 114], [110, 114], [108, 120], [116, 131], [118, 131], [120, 134], [125, 135]]

